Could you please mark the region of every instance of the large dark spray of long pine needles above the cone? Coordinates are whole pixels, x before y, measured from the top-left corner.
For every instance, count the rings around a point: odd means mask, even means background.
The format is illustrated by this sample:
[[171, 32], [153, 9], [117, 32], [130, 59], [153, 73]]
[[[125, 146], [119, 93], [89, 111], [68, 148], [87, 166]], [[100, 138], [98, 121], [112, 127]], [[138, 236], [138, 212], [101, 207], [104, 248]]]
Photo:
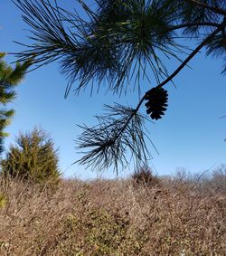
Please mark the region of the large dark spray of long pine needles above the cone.
[[[14, 4], [24, 13], [24, 22], [33, 29], [30, 31], [32, 33], [30, 39], [38, 42], [33, 45], [24, 45], [28, 50], [15, 55], [19, 61], [32, 56], [33, 64], [37, 65], [33, 69], [50, 62], [60, 61], [61, 73], [69, 81], [65, 97], [75, 81], [80, 81], [75, 89], [77, 93], [94, 81], [101, 84], [104, 79], [108, 81], [109, 90], [121, 93], [123, 88], [127, 88], [125, 83], [128, 84], [128, 81], [134, 77], [134, 73], [137, 73], [136, 84], [139, 87], [138, 74], [143, 73], [148, 79], [146, 66], [150, 67], [156, 82], [159, 82], [167, 77], [166, 67], [158, 56], [159, 50], [176, 59], [179, 58], [174, 50], [180, 49], [181, 52], [185, 52], [182, 45], [174, 42], [172, 32], [193, 26], [217, 27], [219, 25], [211, 22], [174, 25], [172, 6], [165, 7], [162, 2], [153, 1], [148, 2], [146, 5], [148, 7], [144, 7], [142, 15], [148, 17], [146, 24], [149, 26], [146, 27], [147, 33], [140, 35], [140, 29], [137, 29], [135, 24], [139, 27], [142, 22], [140, 17], [133, 20], [134, 10], [131, 8], [137, 8], [135, 12], [140, 12], [139, 7], [143, 6], [143, 3], [136, 4], [137, 2], [129, 1], [125, 5], [116, 4], [121, 17], [113, 11], [117, 15], [113, 21], [110, 19], [111, 16], [108, 16], [108, 8], [113, 4], [110, 1], [106, 5], [101, 3], [97, 1], [99, 11], [93, 12], [88, 5], [80, 1], [81, 7], [90, 18], [90, 21], [86, 21], [76, 12], [71, 14], [60, 8], [56, 2], [52, 5], [49, 0], [40, 2], [14, 0]], [[155, 14], [154, 9], [159, 15]], [[131, 16], [131, 20], [127, 14]], [[177, 15], [176, 18], [178, 18]], [[153, 26], [153, 23], [156, 23], [156, 26]], [[182, 62], [180, 59], [179, 61]], [[133, 67], [137, 67], [137, 70], [133, 70]]]

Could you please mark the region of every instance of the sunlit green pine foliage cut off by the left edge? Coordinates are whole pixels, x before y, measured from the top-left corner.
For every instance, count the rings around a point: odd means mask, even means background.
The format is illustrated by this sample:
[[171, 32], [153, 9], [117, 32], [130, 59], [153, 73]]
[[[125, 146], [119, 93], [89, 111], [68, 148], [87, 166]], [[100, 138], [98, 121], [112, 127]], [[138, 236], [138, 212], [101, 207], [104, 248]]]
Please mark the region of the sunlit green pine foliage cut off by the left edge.
[[14, 87], [22, 81], [31, 64], [30, 61], [26, 61], [23, 64], [17, 62], [13, 69], [3, 61], [4, 57], [5, 53], [0, 52], [0, 155], [4, 151], [4, 138], [8, 136], [4, 129], [9, 125], [14, 115], [14, 109], [5, 109], [5, 105], [14, 100]]

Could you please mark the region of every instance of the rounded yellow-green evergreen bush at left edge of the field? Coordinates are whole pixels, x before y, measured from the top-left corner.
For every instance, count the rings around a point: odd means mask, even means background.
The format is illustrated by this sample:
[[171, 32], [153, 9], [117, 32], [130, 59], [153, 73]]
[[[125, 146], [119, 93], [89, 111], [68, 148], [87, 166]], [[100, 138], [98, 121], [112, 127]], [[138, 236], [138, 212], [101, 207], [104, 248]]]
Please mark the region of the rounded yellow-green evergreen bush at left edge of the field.
[[42, 128], [20, 134], [16, 138], [16, 145], [9, 148], [1, 164], [4, 175], [40, 185], [59, 181], [57, 150], [54, 149], [52, 138]]

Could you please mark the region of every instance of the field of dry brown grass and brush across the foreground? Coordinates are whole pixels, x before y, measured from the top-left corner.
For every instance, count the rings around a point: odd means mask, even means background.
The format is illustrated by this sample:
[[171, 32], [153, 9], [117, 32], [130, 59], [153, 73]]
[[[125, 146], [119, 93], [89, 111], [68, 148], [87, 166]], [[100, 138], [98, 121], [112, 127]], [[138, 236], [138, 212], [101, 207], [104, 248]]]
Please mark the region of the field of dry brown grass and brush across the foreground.
[[226, 255], [220, 181], [71, 180], [52, 191], [1, 179], [0, 255]]

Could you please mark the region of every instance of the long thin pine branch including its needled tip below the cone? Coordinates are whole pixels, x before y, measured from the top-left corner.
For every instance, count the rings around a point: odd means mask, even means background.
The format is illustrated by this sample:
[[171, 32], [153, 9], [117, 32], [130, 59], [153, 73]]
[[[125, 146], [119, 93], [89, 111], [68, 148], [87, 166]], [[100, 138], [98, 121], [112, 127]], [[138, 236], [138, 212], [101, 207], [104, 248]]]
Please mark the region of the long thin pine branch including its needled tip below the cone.
[[[193, 59], [195, 54], [200, 52], [206, 43], [212, 41], [212, 38], [219, 33], [225, 25], [226, 20], [207, 36], [165, 81], [159, 83], [155, 88], [160, 89], [166, 83], [172, 81], [174, 77], [184, 69], [187, 63]], [[127, 109], [127, 115], [119, 114], [123, 119], [112, 119], [111, 115], [108, 115], [98, 118], [99, 126], [97, 127], [81, 127], [83, 133], [77, 141], [80, 144], [80, 148], [93, 149], [90, 149], [88, 152], [82, 152], [85, 156], [81, 157], [77, 163], [92, 166], [92, 168], [99, 167], [100, 169], [106, 169], [114, 164], [118, 174], [118, 162], [123, 167], [127, 166], [126, 147], [130, 148], [132, 156], [135, 156], [138, 160], [146, 159], [148, 150], [146, 149], [146, 143], [142, 135], [144, 133], [141, 126], [142, 122], [139, 121], [138, 126], [137, 122], [134, 122], [134, 119], [139, 115], [138, 109], [141, 107], [144, 100], [146, 100], [146, 94], [139, 101], [136, 109]], [[115, 116], [122, 111], [117, 108], [113, 110], [115, 111]], [[137, 134], [138, 137], [136, 137]], [[129, 139], [131, 140], [129, 141]], [[144, 162], [142, 161], [142, 163]]]

